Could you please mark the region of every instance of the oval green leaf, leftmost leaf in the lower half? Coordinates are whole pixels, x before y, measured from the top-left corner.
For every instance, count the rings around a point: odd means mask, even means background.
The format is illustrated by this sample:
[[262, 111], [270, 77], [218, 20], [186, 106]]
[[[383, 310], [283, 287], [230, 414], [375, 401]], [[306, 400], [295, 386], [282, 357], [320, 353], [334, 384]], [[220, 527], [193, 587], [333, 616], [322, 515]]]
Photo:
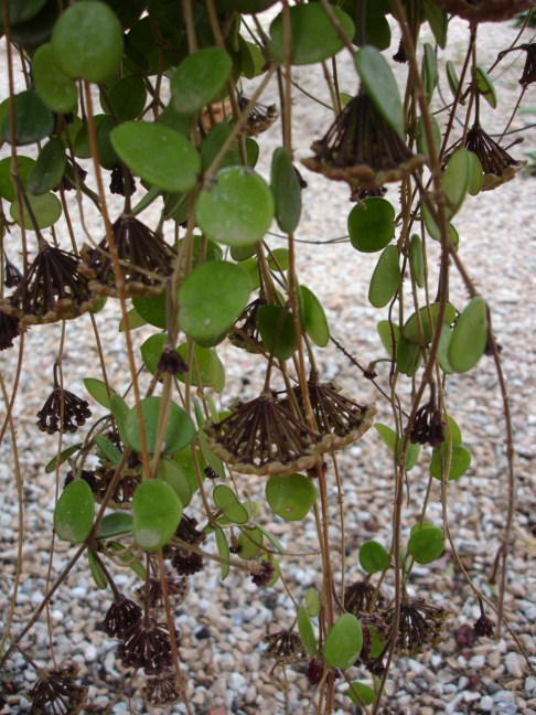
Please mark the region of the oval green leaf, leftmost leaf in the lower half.
[[64, 541], [82, 544], [92, 531], [95, 500], [92, 488], [84, 479], [67, 484], [54, 509], [54, 531]]

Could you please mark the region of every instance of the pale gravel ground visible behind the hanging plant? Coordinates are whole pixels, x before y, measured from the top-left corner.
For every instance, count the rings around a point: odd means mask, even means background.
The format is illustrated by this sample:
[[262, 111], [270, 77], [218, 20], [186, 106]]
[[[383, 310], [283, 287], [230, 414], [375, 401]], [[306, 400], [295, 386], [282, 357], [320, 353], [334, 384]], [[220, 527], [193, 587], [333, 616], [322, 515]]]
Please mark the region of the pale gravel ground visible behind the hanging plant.
[[[462, 23], [454, 25], [459, 42], [463, 39]], [[485, 62], [489, 66], [493, 52], [505, 45], [504, 28], [487, 25], [482, 33]], [[501, 43], [501, 44], [500, 44]], [[454, 57], [457, 44], [453, 45]], [[461, 45], [460, 45], [461, 46]], [[486, 54], [485, 54], [486, 53]], [[459, 56], [458, 56], [459, 58]], [[444, 74], [442, 74], [442, 77]], [[518, 72], [506, 72], [500, 81], [500, 93], [515, 93]], [[355, 79], [349, 73], [341, 76], [342, 87], [355, 90]], [[300, 83], [322, 94], [320, 82], [309, 71], [298, 72]], [[442, 83], [444, 85], [444, 83]], [[448, 89], [444, 88], [446, 94]], [[529, 93], [534, 97], [534, 89]], [[526, 98], [529, 107], [529, 98]], [[533, 104], [534, 111], [534, 104]], [[494, 126], [491, 111], [484, 111], [485, 128]], [[514, 128], [528, 124], [530, 117], [521, 114]], [[294, 145], [299, 157], [308, 153], [311, 137], [323, 134], [328, 114], [311, 111], [301, 102], [296, 106]], [[314, 127], [314, 131], [310, 130]], [[312, 131], [312, 132], [311, 132]], [[527, 132], [525, 145], [513, 150], [515, 156], [534, 148], [534, 130]], [[275, 147], [278, 128], [262, 137], [262, 143]], [[260, 167], [267, 175], [267, 167]], [[321, 177], [307, 173], [309, 188], [304, 193], [303, 220], [299, 237], [307, 241], [326, 241], [346, 233], [346, 215], [351, 204], [343, 185], [333, 185]], [[533, 339], [536, 299], [536, 236], [534, 228], [534, 180], [517, 178], [478, 200], [469, 199], [457, 220], [461, 236], [460, 255], [470, 268], [482, 295], [489, 301], [494, 330], [502, 345], [502, 360], [508, 380], [512, 418], [516, 449], [517, 506], [514, 527], [514, 548], [510, 558], [506, 616], [512, 631], [536, 664], [535, 620], [536, 587], [535, 557], [535, 478], [536, 413], [530, 402], [536, 378], [535, 345]], [[394, 200], [396, 190], [387, 198]], [[156, 221], [156, 214], [153, 215]], [[151, 223], [151, 215], [147, 217]], [[94, 224], [97, 225], [97, 224]], [[274, 237], [274, 246], [283, 245]], [[336, 339], [341, 340], [362, 364], [380, 357], [375, 326], [385, 318], [383, 311], [366, 301], [368, 280], [376, 257], [357, 254], [347, 243], [322, 246], [303, 245], [299, 257], [300, 279], [322, 300]], [[452, 301], [463, 303], [462, 286], [454, 276]], [[127, 378], [122, 335], [117, 332], [117, 307], [109, 305], [97, 316], [114, 386], [120, 389]], [[45, 334], [46, 333], [46, 334]], [[151, 330], [135, 333], [140, 344]], [[24, 530], [22, 585], [14, 616], [17, 632], [47, 589], [49, 551], [55, 476], [45, 474], [44, 466], [53, 457], [54, 438], [39, 433], [33, 415], [40, 409], [51, 389], [52, 366], [55, 360], [60, 328], [46, 331], [31, 330], [26, 335], [25, 359], [15, 404], [18, 425], [18, 459], [24, 478]], [[243, 397], [256, 394], [261, 381], [259, 371], [245, 361], [239, 351], [222, 349], [227, 370], [228, 394]], [[12, 384], [17, 351], [2, 353], [2, 374]], [[361, 402], [375, 399], [379, 418], [389, 420], [388, 405], [383, 404], [371, 383], [332, 346], [319, 354], [322, 377], [336, 378]], [[378, 369], [379, 381], [387, 384], [387, 367]], [[93, 346], [88, 319], [68, 324], [64, 354], [66, 385], [82, 393], [82, 380], [98, 376], [97, 354]], [[464, 442], [473, 453], [469, 473], [452, 484], [449, 517], [454, 543], [463, 555], [465, 568], [475, 584], [490, 597], [495, 591], [489, 586], [493, 562], [500, 546], [506, 503], [506, 457], [504, 449], [504, 419], [500, 391], [490, 359], [483, 359], [478, 370], [453, 376], [448, 383], [452, 413], [462, 427]], [[78, 436], [76, 436], [76, 439]], [[66, 439], [71, 441], [71, 437]], [[415, 522], [427, 487], [427, 458], [410, 472], [409, 500], [404, 508], [405, 534]], [[0, 446], [0, 613], [7, 612], [12, 590], [17, 561], [19, 512], [13, 484], [13, 445], [9, 438]], [[357, 445], [340, 457], [340, 469], [346, 505], [346, 579], [360, 577], [357, 549], [366, 538], [387, 543], [393, 502], [392, 465], [387, 450], [377, 435], [369, 433]], [[64, 473], [61, 479], [63, 480]], [[264, 482], [240, 477], [240, 488], [251, 495], [260, 494]], [[334, 488], [330, 493], [333, 513], [336, 510]], [[435, 484], [429, 511], [430, 519], [441, 520], [439, 485]], [[285, 524], [262, 514], [265, 524], [292, 552], [304, 552], [315, 542], [314, 522]], [[337, 533], [331, 534], [334, 542]], [[51, 579], [68, 562], [73, 549], [64, 543], [55, 546]], [[337, 564], [335, 564], [336, 568]], [[311, 557], [286, 561], [286, 577], [299, 598], [309, 586], [319, 586], [319, 574]], [[132, 583], [129, 573], [117, 577], [118, 585], [128, 589]], [[492, 713], [496, 715], [536, 713], [536, 675], [519, 654], [511, 633], [503, 629], [499, 640], [478, 639], [472, 642], [467, 625], [479, 616], [472, 591], [461, 574], [453, 568], [449, 553], [428, 567], [414, 572], [414, 594], [428, 591], [435, 602], [447, 600], [449, 608], [446, 639], [435, 651], [417, 659], [399, 659], [387, 682], [388, 705], [406, 713]], [[81, 675], [89, 686], [92, 712], [183, 713], [183, 706], [168, 711], [146, 708], [137, 696], [140, 680], [124, 671], [115, 657], [116, 642], [101, 631], [100, 622], [109, 602], [109, 595], [96, 593], [84, 559], [67, 578], [50, 609], [53, 643], [57, 660], [68, 655], [79, 663]], [[182, 663], [189, 677], [189, 696], [199, 715], [213, 713], [302, 714], [308, 709], [311, 691], [302, 669], [287, 670], [287, 701], [280, 671], [271, 673], [271, 662], [264, 655], [262, 638], [291, 626], [292, 601], [281, 589], [257, 589], [248, 578], [232, 573], [226, 581], [219, 579], [216, 565], [210, 565], [191, 580], [186, 600], [176, 609], [176, 625], [182, 633]], [[49, 663], [49, 632], [42, 619], [23, 641], [23, 648], [40, 664]], [[361, 674], [365, 677], [365, 674]], [[2, 675], [7, 705], [0, 713], [22, 713], [28, 708], [24, 692], [34, 682], [33, 670], [17, 654]], [[341, 686], [342, 693], [344, 687]], [[108, 695], [106, 695], [107, 693]], [[110, 697], [117, 702], [107, 709]], [[223, 708], [223, 709], [221, 709]], [[337, 713], [355, 712], [347, 698], [337, 695]]]

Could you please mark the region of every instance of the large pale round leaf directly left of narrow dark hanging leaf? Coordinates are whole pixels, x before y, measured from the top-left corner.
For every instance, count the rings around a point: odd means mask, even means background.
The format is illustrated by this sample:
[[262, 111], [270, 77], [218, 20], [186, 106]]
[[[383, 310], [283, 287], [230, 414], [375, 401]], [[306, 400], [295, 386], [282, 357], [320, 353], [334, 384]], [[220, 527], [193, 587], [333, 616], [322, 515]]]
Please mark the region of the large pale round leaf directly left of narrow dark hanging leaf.
[[228, 167], [200, 192], [195, 217], [208, 238], [229, 246], [248, 246], [260, 241], [270, 227], [274, 198], [255, 171]]

